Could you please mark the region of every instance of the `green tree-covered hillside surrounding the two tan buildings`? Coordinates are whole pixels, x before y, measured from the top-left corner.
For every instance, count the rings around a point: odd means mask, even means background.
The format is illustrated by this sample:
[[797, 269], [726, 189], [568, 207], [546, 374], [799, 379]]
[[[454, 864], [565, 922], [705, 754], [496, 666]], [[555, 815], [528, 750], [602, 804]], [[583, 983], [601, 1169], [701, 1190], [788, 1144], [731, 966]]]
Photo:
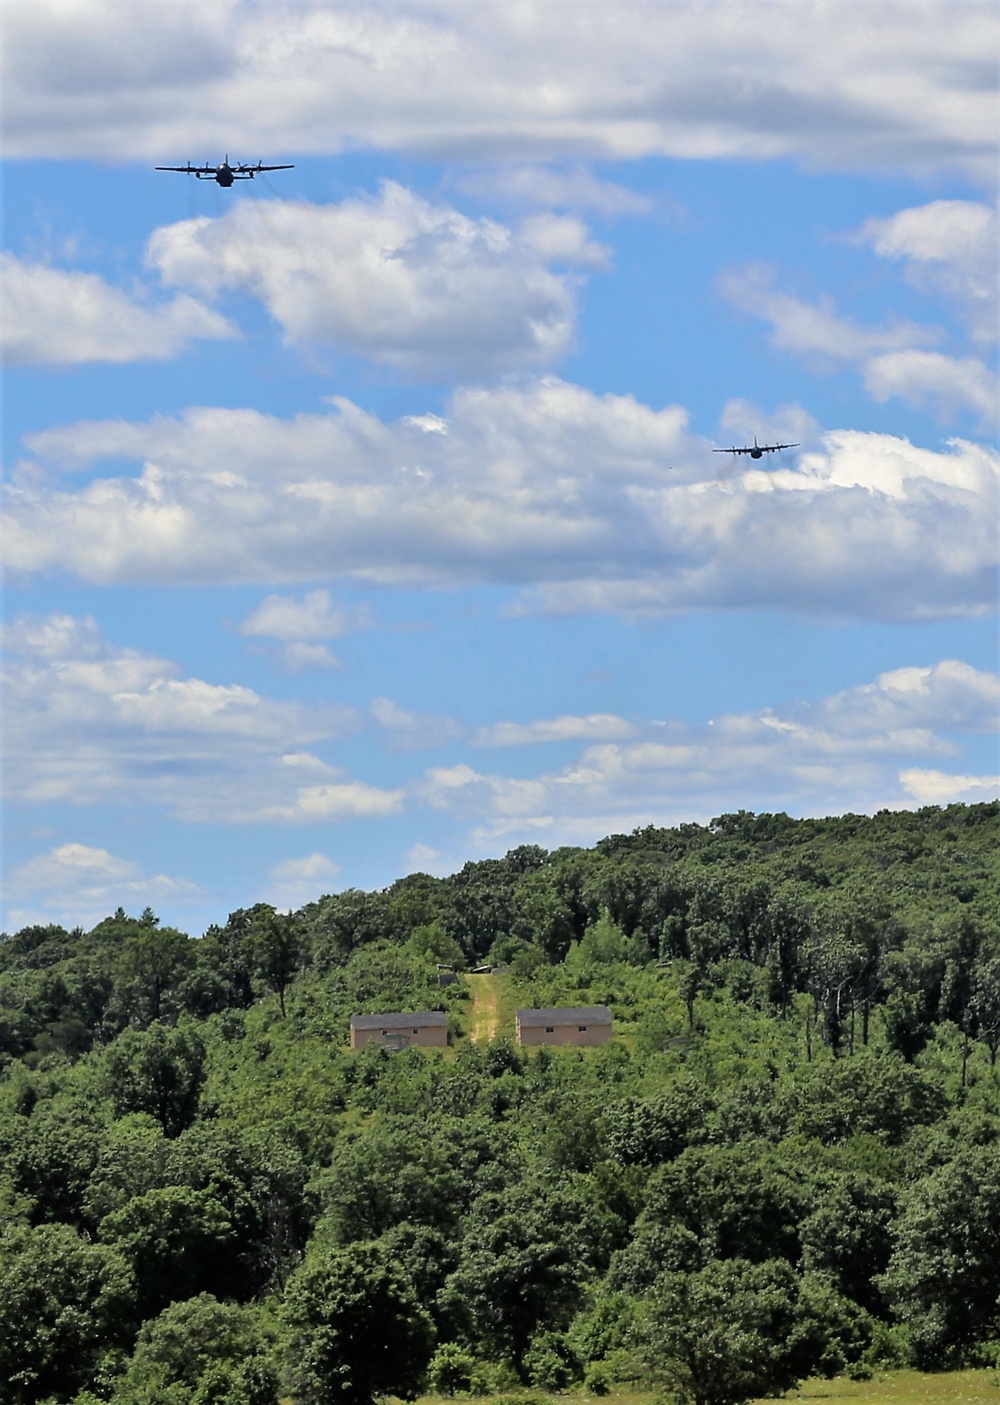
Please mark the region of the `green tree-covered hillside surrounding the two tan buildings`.
[[[603, 1048], [513, 1045], [515, 1006], [596, 1003]], [[393, 1009], [451, 1047], [350, 1052]], [[999, 1047], [997, 804], [521, 847], [199, 937], [27, 927], [0, 1398], [726, 1405], [1000, 1364]]]

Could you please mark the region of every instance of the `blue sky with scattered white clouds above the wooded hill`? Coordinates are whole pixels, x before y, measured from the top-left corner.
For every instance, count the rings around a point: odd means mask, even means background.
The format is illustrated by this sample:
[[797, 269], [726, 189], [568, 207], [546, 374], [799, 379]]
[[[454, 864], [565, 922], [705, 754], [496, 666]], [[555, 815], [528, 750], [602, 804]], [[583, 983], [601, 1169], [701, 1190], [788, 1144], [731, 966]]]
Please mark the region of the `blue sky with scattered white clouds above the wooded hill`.
[[996, 48], [14, 0], [8, 929], [996, 795]]

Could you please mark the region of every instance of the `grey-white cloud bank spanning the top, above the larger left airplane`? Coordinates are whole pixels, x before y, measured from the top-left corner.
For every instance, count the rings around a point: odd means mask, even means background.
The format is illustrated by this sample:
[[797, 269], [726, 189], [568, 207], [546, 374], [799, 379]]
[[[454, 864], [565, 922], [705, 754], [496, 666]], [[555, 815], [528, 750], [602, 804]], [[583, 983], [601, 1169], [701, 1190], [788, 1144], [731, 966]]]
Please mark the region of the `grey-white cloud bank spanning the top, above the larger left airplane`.
[[792, 157], [994, 177], [989, 0], [10, 0], [14, 156]]

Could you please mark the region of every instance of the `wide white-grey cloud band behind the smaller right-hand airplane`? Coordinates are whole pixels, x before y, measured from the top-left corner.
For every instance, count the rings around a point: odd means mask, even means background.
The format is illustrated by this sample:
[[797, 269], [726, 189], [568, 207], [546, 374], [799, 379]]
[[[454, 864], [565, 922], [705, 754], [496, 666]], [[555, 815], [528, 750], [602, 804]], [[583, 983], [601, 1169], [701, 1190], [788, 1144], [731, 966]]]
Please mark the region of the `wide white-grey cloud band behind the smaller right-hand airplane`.
[[10, 568], [111, 582], [506, 583], [522, 608], [758, 606], [930, 618], [996, 601], [1000, 455], [857, 430], [718, 478], [680, 406], [555, 378], [461, 391], [447, 434], [348, 400], [201, 409], [29, 438], [45, 469], [136, 476], [6, 493]]

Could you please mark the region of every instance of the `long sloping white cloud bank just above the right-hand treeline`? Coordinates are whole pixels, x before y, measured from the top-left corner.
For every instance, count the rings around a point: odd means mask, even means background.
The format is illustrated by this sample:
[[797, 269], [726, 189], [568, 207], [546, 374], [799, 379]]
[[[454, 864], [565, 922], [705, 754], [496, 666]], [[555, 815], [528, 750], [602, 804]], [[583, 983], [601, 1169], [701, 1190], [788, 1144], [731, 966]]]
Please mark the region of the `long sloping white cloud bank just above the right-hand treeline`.
[[[1000, 677], [961, 660], [896, 669], [815, 702], [729, 714], [702, 726], [646, 722], [560, 770], [508, 777], [433, 767], [420, 798], [497, 843], [593, 843], [638, 825], [739, 808], [792, 813], [987, 799], [992, 777], [948, 773], [956, 735], [994, 729]], [[927, 767], [928, 760], [938, 764]], [[920, 764], [923, 763], [923, 766]]]

